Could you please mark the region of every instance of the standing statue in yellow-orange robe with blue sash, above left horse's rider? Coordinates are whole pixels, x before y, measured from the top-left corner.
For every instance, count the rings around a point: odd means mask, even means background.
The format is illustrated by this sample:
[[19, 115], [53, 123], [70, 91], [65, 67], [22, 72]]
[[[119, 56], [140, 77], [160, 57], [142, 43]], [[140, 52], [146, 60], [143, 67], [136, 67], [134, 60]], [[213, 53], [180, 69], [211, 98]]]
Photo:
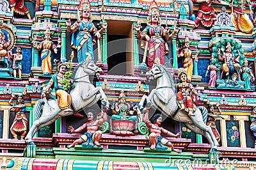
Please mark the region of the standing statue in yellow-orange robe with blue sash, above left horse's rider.
[[54, 50], [54, 53], [57, 54], [58, 49], [60, 45], [56, 46], [51, 41], [51, 31], [49, 28], [46, 29], [44, 32], [44, 41], [42, 41], [39, 45], [37, 45], [35, 39], [33, 40], [33, 47], [35, 47], [36, 50], [41, 50], [41, 59], [42, 59], [42, 70], [44, 75], [51, 75], [52, 73], [52, 63], [51, 63], [51, 56], [52, 52], [51, 49]]

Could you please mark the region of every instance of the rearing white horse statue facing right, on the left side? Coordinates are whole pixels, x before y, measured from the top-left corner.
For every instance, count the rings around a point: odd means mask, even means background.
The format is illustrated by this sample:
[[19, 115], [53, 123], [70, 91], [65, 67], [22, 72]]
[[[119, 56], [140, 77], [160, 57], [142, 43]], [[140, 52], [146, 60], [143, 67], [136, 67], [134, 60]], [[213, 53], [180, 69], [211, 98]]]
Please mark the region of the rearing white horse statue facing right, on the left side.
[[[57, 100], [47, 101], [46, 98], [38, 100], [34, 108], [36, 121], [33, 122], [32, 127], [29, 129], [26, 142], [29, 145], [34, 145], [32, 137], [40, 128], [51, 125], [60, 116], [68, 116], [74, 114], [74, 112], [88, 108], [96, 104], [100, 98], [102, 98], [102, 103], [106, 107], [109, 107], [108, 99], [102, 88], [95, 88], [89, 79], [90, 75], [100, 72], [102, 72], [102, 69], [96, 66], [92, 60], [82, 61], [74, 69], [73, 80], [75, 88], [70, 91], [73, 112], [64, 112], [64, 110], [61, 110]], [[44, 104], [44, 107], [41, 113], [42, 104]]]

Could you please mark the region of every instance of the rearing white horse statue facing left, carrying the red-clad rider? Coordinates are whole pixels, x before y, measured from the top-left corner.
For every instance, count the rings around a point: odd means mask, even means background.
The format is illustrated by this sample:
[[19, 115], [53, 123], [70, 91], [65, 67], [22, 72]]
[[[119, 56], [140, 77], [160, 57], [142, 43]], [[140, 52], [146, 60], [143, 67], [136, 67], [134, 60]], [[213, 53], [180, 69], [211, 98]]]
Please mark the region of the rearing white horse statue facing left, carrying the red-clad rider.
[[207, 109], [202, 106], [197, 107], [196, 111], [193, 112], [195, 116], [188, 116], [188, 112], [180, 111], [176, 101], [173, 75], [170, 74], [165, 66], [158, 63], [149, 70], [146, 75], [148, 79], [156, 79], [157, 86], [148, 96], [144, 95], [142, 97], [139, 104], [140, 109], [143, 108], [143, 104], [146, 100], [147, 107], [152, 106], [154, 109], [161, 111], [164, 115], [170, 116], [173, 120], [184, 122], [185, 125], [196, 134], [204, 135], [211, 144], [212, 151], [216, 151], [219, 144], [211, 127], [205, 124], [208, 114]]

